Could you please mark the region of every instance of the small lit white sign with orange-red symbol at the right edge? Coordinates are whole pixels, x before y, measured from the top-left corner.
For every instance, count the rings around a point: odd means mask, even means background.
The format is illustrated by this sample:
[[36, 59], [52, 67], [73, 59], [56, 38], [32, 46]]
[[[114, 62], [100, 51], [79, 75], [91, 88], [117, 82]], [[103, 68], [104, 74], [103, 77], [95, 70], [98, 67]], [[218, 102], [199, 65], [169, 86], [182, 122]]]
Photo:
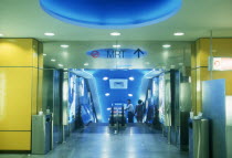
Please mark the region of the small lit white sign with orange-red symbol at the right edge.
[[232, 71], [232, 57], [211, 57], [210, 61], [212, 71]]

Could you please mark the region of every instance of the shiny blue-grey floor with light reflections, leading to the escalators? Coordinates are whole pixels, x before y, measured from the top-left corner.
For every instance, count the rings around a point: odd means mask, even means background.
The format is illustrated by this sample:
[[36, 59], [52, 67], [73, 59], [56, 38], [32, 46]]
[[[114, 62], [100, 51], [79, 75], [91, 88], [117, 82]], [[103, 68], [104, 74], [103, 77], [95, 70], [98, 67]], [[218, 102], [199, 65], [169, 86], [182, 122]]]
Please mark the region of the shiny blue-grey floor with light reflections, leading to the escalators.
[[45, 156], [0, 155], [0, 158], [188, 158], [146, 125], [128, 125], [115, 133], [107, 125], [91, 125], [74, 133]]

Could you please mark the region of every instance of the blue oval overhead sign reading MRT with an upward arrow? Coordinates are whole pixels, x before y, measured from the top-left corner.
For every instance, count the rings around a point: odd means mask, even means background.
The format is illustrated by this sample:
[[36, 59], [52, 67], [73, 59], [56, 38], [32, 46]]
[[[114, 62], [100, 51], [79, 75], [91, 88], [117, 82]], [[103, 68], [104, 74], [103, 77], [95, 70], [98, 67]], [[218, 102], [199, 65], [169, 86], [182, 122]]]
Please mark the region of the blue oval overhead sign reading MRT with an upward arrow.
[[93, 59], [141, 59], [147, 52], [141, 49], [99, 49], [86, 52]]

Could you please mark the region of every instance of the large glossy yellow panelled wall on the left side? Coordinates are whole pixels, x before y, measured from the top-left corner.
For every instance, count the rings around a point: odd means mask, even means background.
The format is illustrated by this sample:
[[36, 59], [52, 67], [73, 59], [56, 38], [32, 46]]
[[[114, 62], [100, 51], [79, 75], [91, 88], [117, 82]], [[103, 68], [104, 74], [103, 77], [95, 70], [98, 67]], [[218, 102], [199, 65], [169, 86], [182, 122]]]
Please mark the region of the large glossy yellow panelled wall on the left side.
[[39, 44], [33, 39], [0, 39], [0, 150], [31, 150], [31, 115], [42, 102]]

